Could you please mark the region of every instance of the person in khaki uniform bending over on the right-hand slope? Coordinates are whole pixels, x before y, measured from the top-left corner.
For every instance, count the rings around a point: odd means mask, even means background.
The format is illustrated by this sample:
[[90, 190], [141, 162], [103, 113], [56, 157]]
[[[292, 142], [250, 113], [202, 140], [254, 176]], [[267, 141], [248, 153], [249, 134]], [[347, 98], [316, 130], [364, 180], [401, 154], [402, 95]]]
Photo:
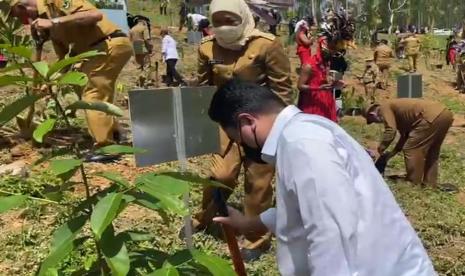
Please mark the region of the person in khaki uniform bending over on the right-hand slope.
[[[378, 147], [380, 158], [389, 160], [403, 150], [407, 180], [414, 184], [437, 186], [441, 145], [454, 121], [454, 115], [441, 103], [423, 99], [394, 99], [368, 108], [367, 123], [384, 124]], [[392, 152], [386, 152], [400, 133]]]

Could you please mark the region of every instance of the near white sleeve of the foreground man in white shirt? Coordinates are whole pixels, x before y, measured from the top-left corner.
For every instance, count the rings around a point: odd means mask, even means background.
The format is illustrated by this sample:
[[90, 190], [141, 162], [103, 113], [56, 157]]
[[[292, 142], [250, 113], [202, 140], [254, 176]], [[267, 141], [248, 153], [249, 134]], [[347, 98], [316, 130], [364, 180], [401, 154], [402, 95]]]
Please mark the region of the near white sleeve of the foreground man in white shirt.
[[[288, 164], [305, 233], [307, 266], [312, 276], [352, 275], [359, 206], [346, 160], [330, 142], [307, 140], [289, 146]], [[347, 156], [348, 153], [346, 153]]]

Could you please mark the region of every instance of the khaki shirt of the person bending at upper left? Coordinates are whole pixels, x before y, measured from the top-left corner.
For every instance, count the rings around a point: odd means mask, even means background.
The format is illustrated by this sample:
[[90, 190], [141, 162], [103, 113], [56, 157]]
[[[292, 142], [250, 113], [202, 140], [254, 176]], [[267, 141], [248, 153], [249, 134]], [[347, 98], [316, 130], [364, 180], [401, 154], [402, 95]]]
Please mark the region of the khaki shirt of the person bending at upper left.
[[[37, 0], [37, 9], [41, 18], [57, 18], [77, 12], [96, 10], [86, 0]], [[50, 32], [50, 39], [59, 58], [71, 51], [80, 54], [89, 51], [96, 42], [120, 30], [105, 14], [103, 19], [92, 26], [59, 25]]]

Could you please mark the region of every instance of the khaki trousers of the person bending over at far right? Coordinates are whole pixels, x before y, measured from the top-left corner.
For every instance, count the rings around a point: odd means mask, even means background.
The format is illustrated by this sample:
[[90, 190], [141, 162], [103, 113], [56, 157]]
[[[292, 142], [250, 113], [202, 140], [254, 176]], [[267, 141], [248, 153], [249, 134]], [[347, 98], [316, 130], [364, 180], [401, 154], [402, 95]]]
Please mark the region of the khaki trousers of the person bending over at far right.
[[452, 112], [444, 110], [432, 123], [422, 119], [409, 133], [403, 149], [409, 181], [437, 185], [439, 153], [453, 121]]

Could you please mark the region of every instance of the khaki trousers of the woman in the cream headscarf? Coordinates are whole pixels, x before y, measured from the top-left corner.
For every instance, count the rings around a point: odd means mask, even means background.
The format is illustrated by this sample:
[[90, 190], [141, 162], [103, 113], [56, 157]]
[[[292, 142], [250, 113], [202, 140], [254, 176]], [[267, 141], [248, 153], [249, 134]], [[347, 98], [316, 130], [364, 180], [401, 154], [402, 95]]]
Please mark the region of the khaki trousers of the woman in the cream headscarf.
[[[223, 184], [234, 189], [237, 186], [241, 166], [245, 170], [244, 186], [244, 213], [246, 216], [257, 216], [272, 206], [273, 187], [271, 181], [274, 176], [274, 168], [267, 164], [258, 164], [251, 160], [242, 160], [240, 147], [237, 144], [230, 145], [230, 140], [223, 130], [220, 130], [221, 152], [215, 154], [211, 176]], [[228, 148], [228, 145], [230, 148]], [[242, 151], [243, 152], [243, 151]], [[227, 192], [226, 196], [231, 193]], [[196, 227], [206, 227], [215, 216], [216, 208], [213, 201], [213, 188], [206, 187], [203, 191], [202, 211], [195, 216]], [[245, 235], [244, 248], [266, 248], [270, 245], [270, 233], [249, 233]]]

